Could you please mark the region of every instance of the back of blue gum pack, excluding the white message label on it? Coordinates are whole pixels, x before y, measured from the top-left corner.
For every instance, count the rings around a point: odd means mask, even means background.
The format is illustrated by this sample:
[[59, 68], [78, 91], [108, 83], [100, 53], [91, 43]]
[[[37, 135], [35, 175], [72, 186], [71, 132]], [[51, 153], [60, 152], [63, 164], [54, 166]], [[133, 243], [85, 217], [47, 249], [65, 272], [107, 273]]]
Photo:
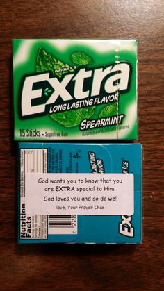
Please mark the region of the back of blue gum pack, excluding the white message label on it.
[[[26, 215], [27, 173], [102, 172], [133, 174], [133, 215]], [[18, 201], [18, 242], [21, 244], [140, 244], [142, 145], [19, 142]]]

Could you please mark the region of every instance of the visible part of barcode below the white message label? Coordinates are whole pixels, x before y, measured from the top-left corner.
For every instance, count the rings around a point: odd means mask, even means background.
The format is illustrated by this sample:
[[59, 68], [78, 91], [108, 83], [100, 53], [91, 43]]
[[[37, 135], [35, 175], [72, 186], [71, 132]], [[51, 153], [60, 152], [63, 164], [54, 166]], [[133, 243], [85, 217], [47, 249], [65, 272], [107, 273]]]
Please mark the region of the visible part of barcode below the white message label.
[[77, 215], [49, 215], [49, 234], [77, 233]]

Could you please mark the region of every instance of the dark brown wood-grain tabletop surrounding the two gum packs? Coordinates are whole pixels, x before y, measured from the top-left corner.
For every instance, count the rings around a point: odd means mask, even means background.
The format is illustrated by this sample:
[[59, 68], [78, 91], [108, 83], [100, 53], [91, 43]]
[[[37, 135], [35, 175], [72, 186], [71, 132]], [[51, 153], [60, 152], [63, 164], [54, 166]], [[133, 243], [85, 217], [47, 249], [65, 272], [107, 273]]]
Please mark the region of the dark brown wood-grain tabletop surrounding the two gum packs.
[[[163, 0], [1, 0], [0, 290], [164, 290]], [[13, 38], [137, 38], [142, 245], [18, 245]]]

